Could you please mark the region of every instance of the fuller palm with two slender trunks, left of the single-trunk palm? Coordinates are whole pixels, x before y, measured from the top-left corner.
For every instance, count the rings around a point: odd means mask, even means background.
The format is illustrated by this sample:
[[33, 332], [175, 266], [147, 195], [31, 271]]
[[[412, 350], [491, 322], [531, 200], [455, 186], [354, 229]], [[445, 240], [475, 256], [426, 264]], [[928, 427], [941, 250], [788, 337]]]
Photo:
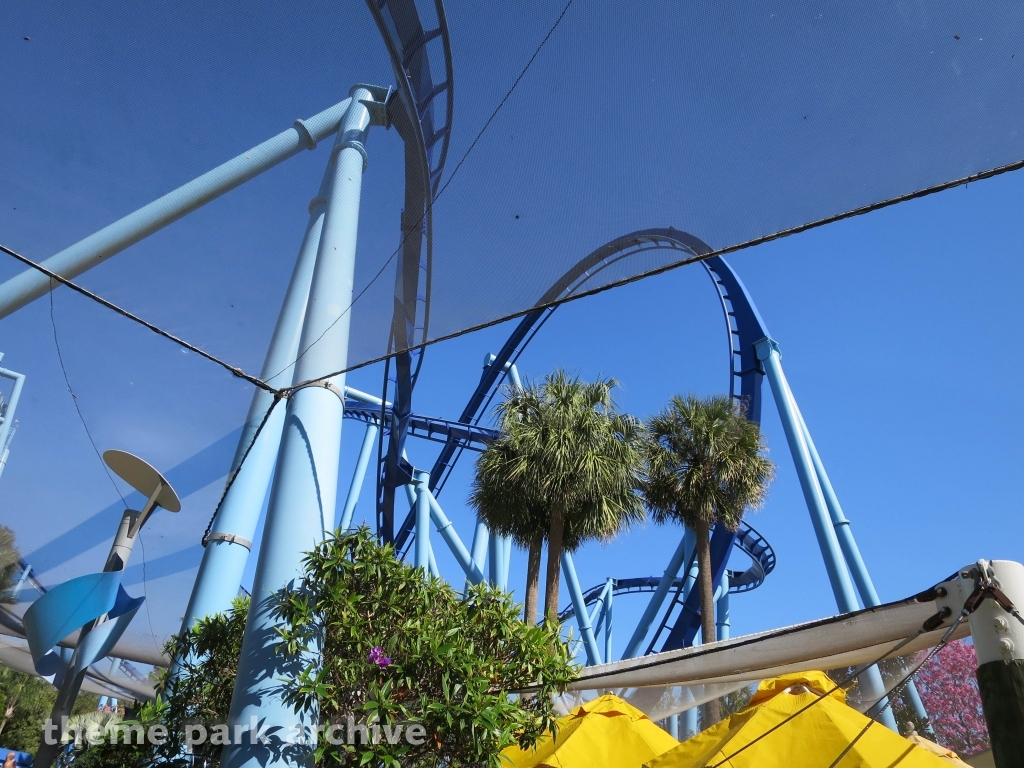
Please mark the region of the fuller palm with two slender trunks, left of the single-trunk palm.
[[510, 389], [498, 407], [504, 434], [477, 459], [470, 503], [493, 531], [529, 553], [526, 622], [536, 622], [545, 539], [544, 613], [557, 621], [562, 551], [611, 539], [643, 519], [643, 427], [615, 409], [616, 386], [555, 371]]

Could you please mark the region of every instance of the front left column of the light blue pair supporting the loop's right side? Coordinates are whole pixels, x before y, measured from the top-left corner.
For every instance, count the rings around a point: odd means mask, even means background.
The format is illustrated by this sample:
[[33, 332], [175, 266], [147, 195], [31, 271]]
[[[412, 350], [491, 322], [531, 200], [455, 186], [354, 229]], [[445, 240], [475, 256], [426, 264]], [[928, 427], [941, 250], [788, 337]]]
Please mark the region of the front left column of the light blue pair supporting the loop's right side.
[[[771, 384], [772, 394], [775, 397], [775, 406], [778, 409], [779, 419], [782, 421], [782, 428], [790, 443], [790, 452], [793, 454], [793, 461], [797, 467], [797, 475], [800, 477], [800, 485], [804, 492], [807, 509], [811, 513], [811, 524], [814, 526], [818, 547], [825, 562], [825, 570], [828, 573], [828, 581], [831, 583], [836, 603], [843, 613], [858, 610], [860, 606], [857, 604], [857, 595], [854, 591], [853, 581], [850, 578], [849, 570], [847, 570], [846, 560], [843, 559], [843, 553], [839, 546], [839, 540], [836, 537], [836, 529], [833, 527], [831, 519], [828, 515], [824, 495], [818, 483], [817, 473], [814, 471], [814, 462], [807, 446], [807, 439], [797, 411], [796, 399], [790, 389], [785, 374], [782, 372], [781, 353], [779, 352], [778, 344], [774, 339], [766, 337], [754, 346], [757, 350], [758, 359], [764, 366], [768, 382]], [[877, 667], [871, 667], [867, 670], [861, 676], [860, 682], [864, 694], [868, 698], [881, 699], [885, 696], [885, 684], [882, 681], [882, 674]], [[887, 709], [882, 713], [880, 722], [898, 732], [892, 709]]]

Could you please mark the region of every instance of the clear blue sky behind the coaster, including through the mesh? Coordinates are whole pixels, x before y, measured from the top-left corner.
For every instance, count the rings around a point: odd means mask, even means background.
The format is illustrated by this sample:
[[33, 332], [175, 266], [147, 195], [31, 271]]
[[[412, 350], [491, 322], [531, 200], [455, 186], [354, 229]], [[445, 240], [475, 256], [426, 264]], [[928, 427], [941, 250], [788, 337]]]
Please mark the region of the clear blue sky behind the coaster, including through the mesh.
[[[450, 8], [458, 33], [453, 158], [468, 146], [559, 10], [550, 3], [514, 6], [500, 17], [468, 5]], [[437, 258], [446, 275], [437, 283], [438, 295], [446, 297], [438, 323], [504, 311], [508, 297], [520, 293], [536, 297], [534, 285], [546, 272], [531, 271], [531, 263], [572, 262], [603, 239], [632, 229], [671, 224], [724, 245], [743, 232], [798, 223], [792, 218], [801, 212], [813, 218], [884, 196], [892, 191], [883, 183], [891, 180], [889, 167], [899, 169], [893, 173], [900, 183], [934, 181], [940, 170], [948, 172], [943, 178], [956, 176], [973, 163], [1005, 162], [1020, 148], [1016, 102], [995, 98], [1006, 81], [993, 78], [990, 91], [968, 94], [985, 108], [971, 112], [955, 100], [966, 97], [957, 90], [966, 87], [959, 75], [929, 80], [931, 71], [923, 69], [904, 88], [934, 86], [931, 98], [911, 99], [906, 111], [889, 102], [871, 106], [863, 93], [841, 87], [850, 82], [842, 66], [827, 77], [808, 73], [824, 67], [833, 51], [840, 65], [862, 68], [879, 51], [885, 60], [899, 58], [895, 22], [880, 33], [873, 54], [843, 34], [861, 29], [864, 19], [843, 16], [826, 18], [820, 29], [809, 26], [800, 38], [806, 46], [787, 48], [804, 29], [801, 13], [810, 12], [794, 7], [799, 12], [786, 22], [788, 32], [772, 37], [773, 11], [751, 4], [733, 41], [742, 61], [717, 70], [700, 69], [701, 56], [718, 56], [716, 66], [727, 60], [709, 40], [733, 29], [729, 19], [709, 12], [702, 26], [663, 30], [653, 17], [638, 20], [607, 4], [574, 8], [552, 38], [550, 58], [539, 58], [438, 207]], [[1010, 45], [1001, 38], [992, 48], [982, 45], [985, 23], [997, 13], [977, 19], [958, 17], [947, 4], [937, 8], [943, 12], [932, 27], [918, 29], [934, 31], [935, 50], [953, 51], [942, 54], [941, 72], [954, 72], [949, 65], [957, 61], [968, 72], [984, 70], [988, 57]], [[269, 5], [257, 4], [0, 8], [0, 242], [44, 258], [295, 118], [340, 100], [352, 82], [392, 81], [361, 5], [343, 20], [326, 5], [271, 13]], [[956, 58], [954, 28], [977, 33], [962, 36], [975, 52]], [[649, 35], [657, 36], [657, 45]], [[931, 43], [929, 35], [915, 44]], [[669, 49], [686, 52], [670, 63], [693, 69], [674, 72], [652, 52]], [[999, 76], [1019, 79], [1018, 65]], [[768, 82], [762, 71], [796, 74], [792, 82]], [[854, 72], [868, 82], [877, 75]], [[831, 90], [818, 88], [822, 82]], [[805, 91], [816, 95], [801, 98]], [[709, 95], [718, 92], [724, 94], [718, 101]], [[889, 98], [901, 92], [896, 86], [886, 91]], [[886, 127], [906, 129], [906, 121], [943, 98], [952, 100], [934, 121], [919, 120], [898, 141], [880, 143]], [[564, 106], [567, 100], [577, 112]], [[806, 135], [783, 130], [787, 110], [800, 113], [795, 119], [805, 130], [805, 102], [819, 108], [809, 122], [820, 118], [823, 127]], [[895, 122], [885, 122], [890, 118]], [[995, 138], [967, 130], [986, 120], [998, 127]], [[760, 143], [748, 143], [752, 137]], [[962, 145], [977, 157], [962, 153]], [[830, 155], [837, 146], [843, 152]], [[775, 154], [765, 155], [764, 147]], [[368, 148], [364, 279], [397, 244], [401, 178], [393, 131], [376, 131]], [[805, 155], [820, 162], [793, 165]], [[915, 164], [900, 165], [906, 158]], [[82, 283], [258, 371], [325, 162], [326, 147], [304, 154]], [[687, 164], [715, 183], [681, 174]], [[778, 176], [780, 168], [788, 175]], [[728, 257], [781, 345], [793, 389], [884, 599], [916, 591], [978, 557], [1022, 556], [1017, 467], [1024, 425], [1016, 386], [1022, 372], [1014, 347], [1024, 283], [1022, 198], [1024, 176], [1010, 174]], [[513, 213], [522, 216], [522, 231]], [[481, 269], [499, 262], [514, 278], [518, 253], [537, 260], [524, 262], [521, 285], [481, 282]], [[0, 279], [17, 271], [0, 261]], [[467, 288], [462, 303], [452, 299]], [[364, 327], [390, 315], [389, 292], [385, 282], [368, 294]], [[53, 584], [99, 567], [120, 500], [67, 392], [49, 310], [43, 300], [0, 323], [2, 365], [29, 376], [22, 426], [0, 478], [0, 522], [14, 527], [28, 559]], [[250, 390], [66, 290], [54, 294], [53, 317], [100, 451], [122, 447], [161, 469], [177, 467], [175, 482], [186, 488], [178, 516], [147, 525], [146, 552], [136, 554], [127, 579], [129, 591], [150, 597], [150, 612], [136, 618], [132, 632], [144, 636], [152, 628], [162, 638], [176, 629], [183, 609], [199, 538], [219, 497]], [[498, 327], [430, 348], [416, 410], [457, 416], [483, 354], [496, 351], [510, 330]], [[675, 392], [723, 391], [725, 365], [720, 308], [699, 267], [560, 308], [520, 359], [528, 376], [558, 366], [585, 377], [614, 376], [622, 406], [640, 416]], [[350, 383], [378, 391], [380, 370], [356, 372]], [[779, 471], [767, 506], [751, 521], [774, 546], [778, 566], [759, 591], [733, 601], [734, 633], [835, 610], [770, 407], [764, 427]], [[346, 424], [343, 486], [358, 437]], [[415, 444], [411, 454], [428, 465], [433, 449]], [[470, 470], [464, 462], [441, 497], [466, 539]], [[357, 517], [372, 518], [371, 510], [367, 496]], [[589, 548], [577, 558], [585, 586], [608, 575], [659, 573], [677, 536], [647, 526]], [[442, 563], [455, 578], [452, 561]], [[521, 565], [517, 556], [517, 589]], [[620, 650], [641, 600], [616, 605]]]

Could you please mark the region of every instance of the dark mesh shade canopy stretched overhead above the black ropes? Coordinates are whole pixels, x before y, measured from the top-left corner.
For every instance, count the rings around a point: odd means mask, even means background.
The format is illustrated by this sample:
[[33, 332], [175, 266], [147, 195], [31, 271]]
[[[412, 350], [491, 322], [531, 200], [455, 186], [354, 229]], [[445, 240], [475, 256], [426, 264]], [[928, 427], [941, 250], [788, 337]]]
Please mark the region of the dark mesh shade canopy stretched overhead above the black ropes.
[[[418, 7], [423, 28], [436, 28], [433, 4]], [[428, 157], [437, 195], [426, 203], [432, 248], [411, 343], [527, 311], [626, 232], [671, 226], [734, 249], [1024, 159], [1019, 2], [575, 0], [551, 32], [563, 8], [445, 6], [454, 77], [429, 108], [432, 130], [445, 126], [447, 95], [454, 110], [446, 156], [437, 143]], [[38, 261], [337, 103], [354, 83], [395, 83], [361, 3], [14, 0], [0, 30], [0, 243]], [[443, 49], [429, 45], [431, 82], [446, 83]], [[258, 373], [330, 143], [78, 282]], [[339, 369], [395, 351], [396, 270], [416, 213], [403, 234], [403, 147], [397, 126], [372, 130]], [[574, 291], [683, 257], [638, 251]], [[24, 268], [0, 258], [0, 281]], [[152, 628], [163, 637], [187, 599], [251, 388], [67, 289], [53, 297], [63, 362], [100, 450], [145, 458], [182, 497], [177, 521], [155, 520], [150, 535]], [[26, 425], [15, 446], [81, 482], [74, 495], [40, 490], [12, 465], [5, 507], [26, 514], [2, 522], [54, 582], [95, 567], [121, 503], [73, 432], [49, 312], [44, 297], [0, 321], [3, 365], [29, 374], [26, 392], [65, 419], [51, 431]], [[52, 524], [36, 524], [44, 517]], [[138, 621], [131, 631], [151, 629]]]

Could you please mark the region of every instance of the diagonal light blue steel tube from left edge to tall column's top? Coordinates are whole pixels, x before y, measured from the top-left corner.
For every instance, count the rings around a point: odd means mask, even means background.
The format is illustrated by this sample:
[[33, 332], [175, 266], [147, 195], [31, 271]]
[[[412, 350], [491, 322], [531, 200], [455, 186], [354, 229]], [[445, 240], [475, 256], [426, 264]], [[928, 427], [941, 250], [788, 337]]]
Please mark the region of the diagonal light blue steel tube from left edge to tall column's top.
[[[307, 120], [296, 120], [287, 131], [104, 226], [46, 259], [43, 265], [69, 279], [91, 269], [302, 150], [312, 150], [317, 141], [338, 130], [338, 123], [347, 109], [348, 99]], [[36, 269], [27, 269], [11, 278], [0, 285], [0, 317], [45, 295], [51, 287], [50, 279]]]

